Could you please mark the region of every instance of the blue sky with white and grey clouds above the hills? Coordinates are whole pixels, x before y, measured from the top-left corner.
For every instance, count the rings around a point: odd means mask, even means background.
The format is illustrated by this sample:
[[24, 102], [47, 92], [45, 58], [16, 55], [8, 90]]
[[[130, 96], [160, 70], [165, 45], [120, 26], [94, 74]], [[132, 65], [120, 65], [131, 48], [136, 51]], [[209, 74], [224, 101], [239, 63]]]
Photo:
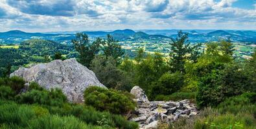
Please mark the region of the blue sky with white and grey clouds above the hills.
[[256, 0], [0, 0], [0, 32], [256, 30]]

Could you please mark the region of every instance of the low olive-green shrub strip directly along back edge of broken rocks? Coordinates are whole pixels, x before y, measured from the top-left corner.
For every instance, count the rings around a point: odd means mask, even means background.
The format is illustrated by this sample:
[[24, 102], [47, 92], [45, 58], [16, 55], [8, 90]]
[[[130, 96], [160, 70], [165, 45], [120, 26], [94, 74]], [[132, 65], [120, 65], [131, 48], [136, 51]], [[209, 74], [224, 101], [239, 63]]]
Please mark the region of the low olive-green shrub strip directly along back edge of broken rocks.
[[194, 101], [196, 98], [195, 92], [176, 92], [171, 95], [157, 95], [156, 101], [181, 101], [183, 99], [190, 99], [191, 101]]

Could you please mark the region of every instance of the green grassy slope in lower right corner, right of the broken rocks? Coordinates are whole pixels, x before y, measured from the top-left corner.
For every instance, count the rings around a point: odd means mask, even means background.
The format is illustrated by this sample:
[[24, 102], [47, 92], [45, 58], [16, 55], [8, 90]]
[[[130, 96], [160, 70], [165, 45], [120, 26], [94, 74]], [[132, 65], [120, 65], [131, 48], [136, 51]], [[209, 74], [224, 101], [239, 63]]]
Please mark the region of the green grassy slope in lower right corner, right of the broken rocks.
[[215, 108], [204, 108], [192, 119], [178, 119], [169, 128], [255, 129], [255, 94], [230, 97]]

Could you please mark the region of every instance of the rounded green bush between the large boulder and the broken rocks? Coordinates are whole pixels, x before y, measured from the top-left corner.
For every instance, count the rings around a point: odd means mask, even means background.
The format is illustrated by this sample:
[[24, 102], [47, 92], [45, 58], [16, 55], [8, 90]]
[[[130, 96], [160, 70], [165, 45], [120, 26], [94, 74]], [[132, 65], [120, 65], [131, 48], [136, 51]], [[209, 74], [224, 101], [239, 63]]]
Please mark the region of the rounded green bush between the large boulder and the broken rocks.
[[122, 94], [117, 90], [100, 88], [99, 86], [87, 88], [84, 91], [84, 100], [86, 105], [113, 114], [126, 114], [135, 108], [135, 103], [130, 95]]

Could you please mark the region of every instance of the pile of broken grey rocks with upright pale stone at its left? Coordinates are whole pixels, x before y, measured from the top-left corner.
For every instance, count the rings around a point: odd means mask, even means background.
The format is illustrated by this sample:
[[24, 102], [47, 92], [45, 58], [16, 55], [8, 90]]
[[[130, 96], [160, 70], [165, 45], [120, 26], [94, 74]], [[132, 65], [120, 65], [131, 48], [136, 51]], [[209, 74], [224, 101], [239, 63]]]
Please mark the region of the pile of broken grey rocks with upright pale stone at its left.
[[148, 101], [145, 92], [134, 86], [131, 94], [135, 96], [134, 101], [137, 102], [134, 117], [130, 119], [139, 123], [141, 129], [157, 128], [158, 121], [171, 123], [180, 117], [192, 117], [198, 114], [195, 104], [189, 100], [183, 101]]

